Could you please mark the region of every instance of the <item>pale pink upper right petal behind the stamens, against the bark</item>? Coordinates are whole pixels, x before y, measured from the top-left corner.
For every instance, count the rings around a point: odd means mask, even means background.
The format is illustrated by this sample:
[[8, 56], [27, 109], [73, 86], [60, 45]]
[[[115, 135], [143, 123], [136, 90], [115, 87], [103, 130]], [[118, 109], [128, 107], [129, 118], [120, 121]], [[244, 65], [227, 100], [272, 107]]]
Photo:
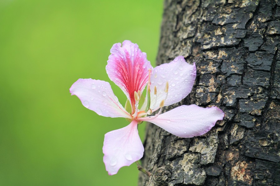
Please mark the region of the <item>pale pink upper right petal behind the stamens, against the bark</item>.
[[[154, 68], [151, 77], [151, 108], [158, 108], [161, 100], [166, 98], [166, 92], [164, 92], [166, 82], [168, 82], [169, 88], [164, 106], [184, 99], [192, 90], [195, 77], [195, 64], [188, 64], [183, 56], [178, 56], [170, 63], [161, 64]], [[154, 86], [156, 86], [157, 98], [153, 94]], [[156, 103], [155, 100], [157, 100]]]

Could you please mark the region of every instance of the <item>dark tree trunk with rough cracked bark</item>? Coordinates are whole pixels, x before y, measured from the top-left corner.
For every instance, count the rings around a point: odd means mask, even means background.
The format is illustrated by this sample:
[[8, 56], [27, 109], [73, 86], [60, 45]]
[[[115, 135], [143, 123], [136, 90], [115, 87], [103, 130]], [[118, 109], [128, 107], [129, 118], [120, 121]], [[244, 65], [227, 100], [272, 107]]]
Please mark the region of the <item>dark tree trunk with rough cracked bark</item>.
[[180, 138], [147, 124], [144, 185], [280, 185], [280, 1], [166, 0], [157, 64], [197, 65], [180, 103], [215, 105], [223, 121]]

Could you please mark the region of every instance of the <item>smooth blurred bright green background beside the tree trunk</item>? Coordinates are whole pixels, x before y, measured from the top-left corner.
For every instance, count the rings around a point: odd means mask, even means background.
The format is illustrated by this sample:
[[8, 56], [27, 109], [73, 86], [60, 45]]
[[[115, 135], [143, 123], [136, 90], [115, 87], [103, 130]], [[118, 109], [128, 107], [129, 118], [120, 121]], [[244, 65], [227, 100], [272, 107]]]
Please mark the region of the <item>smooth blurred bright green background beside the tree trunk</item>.
[[109, 176], [102, 160], [104, 134], [128, 122], [86, 109], [69, 88], [110, 82], [110, 48], [125, 39], [154, 66], [162, 9], [162, 0], [0, 0], [1, 186], [137, 185], [135, 164]]

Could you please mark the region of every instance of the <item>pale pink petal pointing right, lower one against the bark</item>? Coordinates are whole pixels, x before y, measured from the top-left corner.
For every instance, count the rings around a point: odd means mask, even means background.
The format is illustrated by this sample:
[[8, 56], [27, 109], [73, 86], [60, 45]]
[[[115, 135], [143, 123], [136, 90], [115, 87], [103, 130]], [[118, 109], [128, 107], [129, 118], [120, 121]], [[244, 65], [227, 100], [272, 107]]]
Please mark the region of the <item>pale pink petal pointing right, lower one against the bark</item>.
[[197, 105], [182, 105], [158, 117], [141, 117], [138, 120], [152, 122], [167, 132], [183, 138], [203, 135], [222, 120], [224, 113], [217, 107], [202, 108]]

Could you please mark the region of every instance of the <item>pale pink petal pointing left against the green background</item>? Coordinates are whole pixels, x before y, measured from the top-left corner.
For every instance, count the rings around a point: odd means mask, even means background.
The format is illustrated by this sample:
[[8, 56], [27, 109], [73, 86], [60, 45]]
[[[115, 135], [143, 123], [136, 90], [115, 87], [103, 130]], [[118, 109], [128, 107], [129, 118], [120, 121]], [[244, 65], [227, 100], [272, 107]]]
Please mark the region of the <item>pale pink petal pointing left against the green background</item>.
[[78, 79], [70, 88], [71, 95], [77, 95], [82, 104], [105, 117], [125, 117], [131, 115], [119, 103], [108, 82], [95, 79]]

